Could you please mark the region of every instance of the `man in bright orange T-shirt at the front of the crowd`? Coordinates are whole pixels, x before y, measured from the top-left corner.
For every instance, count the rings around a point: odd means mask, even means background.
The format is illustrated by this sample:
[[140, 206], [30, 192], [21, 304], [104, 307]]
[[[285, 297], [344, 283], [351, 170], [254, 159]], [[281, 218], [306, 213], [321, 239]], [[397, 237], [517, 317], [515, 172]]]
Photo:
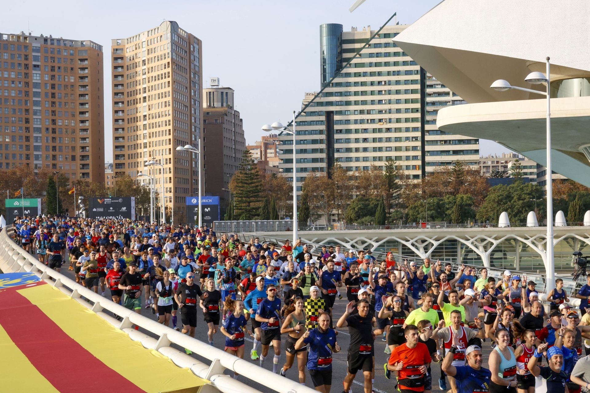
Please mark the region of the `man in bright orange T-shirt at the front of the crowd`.
[[402, 393], [424, 392], [427, 385], [426, 375], [432, 358], [426, 344], [418, 342], [419, 335], [417, 326], [407, 325], [404, 328], [406, 342], [391, 351], [389, 356], [387, 371], [398, 372], [398, 384], [394, 389]]

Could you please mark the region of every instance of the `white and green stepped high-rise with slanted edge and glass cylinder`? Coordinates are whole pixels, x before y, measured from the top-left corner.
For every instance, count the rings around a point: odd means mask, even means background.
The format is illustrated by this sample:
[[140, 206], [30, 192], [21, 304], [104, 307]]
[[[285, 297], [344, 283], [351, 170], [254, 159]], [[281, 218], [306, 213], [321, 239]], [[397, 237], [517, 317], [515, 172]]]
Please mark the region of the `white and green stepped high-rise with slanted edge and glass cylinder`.
[[[306, 93], [296, 119], [299, 190], [306, 174], [335, 164], [359, 174], [372, 165], [383, 169], [391, 159], [412, 180], [456, 160], [477, 166], [476, 138], [443, 136], [436, 127], [438, 108], [463, 101], [392, 42], [406, 27], [386, 26], [376, 34], [371, 27], [320, 26], [322, 90]], [[279, 139], [280, 167], [292, 181], [293, 140], [286, 134]]]

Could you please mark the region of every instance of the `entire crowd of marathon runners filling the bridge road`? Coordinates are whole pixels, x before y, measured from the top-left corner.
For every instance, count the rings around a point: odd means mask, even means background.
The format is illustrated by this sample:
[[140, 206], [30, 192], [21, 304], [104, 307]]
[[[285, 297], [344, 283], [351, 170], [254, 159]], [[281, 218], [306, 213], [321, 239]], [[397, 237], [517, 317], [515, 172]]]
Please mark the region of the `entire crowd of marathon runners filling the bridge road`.
[[[371, 250], [340, 246], [312, 253], [300, 241], [129, 220], [26, 217], [14, 226], [25, 250], [52, 269], [74, 270], [86, 288], [138, 313], [151, 309], [193, 337], [202, 318], [209, 344], [223, 335], [225, 351], [261, 366], [272, 355], [283, 376], [297, 362], [299, 382], [309, 375], [320, 392], [332, 387], [336, 328], [350, 335], [343, 393], [359, 372], [371, 393], [379, 339], [389, 355], [385, 377], [400, 392], [430, 393], [433, 367], [441, 370], [438, 387], [451, 393], [533, 393], [539, 382], [550, 393], [589, 391], [590, 274], [571, 296], [581, 299], [579, 309], [558, 279], [546, 311], [536, 283], [509, 270], [496, 280], [486, 268], [454, 272], [428, 258], [377, 260]], [[346, 311], [333, 315], [339, 301]], [[487, 365], [484, 345], [492, 348]]]

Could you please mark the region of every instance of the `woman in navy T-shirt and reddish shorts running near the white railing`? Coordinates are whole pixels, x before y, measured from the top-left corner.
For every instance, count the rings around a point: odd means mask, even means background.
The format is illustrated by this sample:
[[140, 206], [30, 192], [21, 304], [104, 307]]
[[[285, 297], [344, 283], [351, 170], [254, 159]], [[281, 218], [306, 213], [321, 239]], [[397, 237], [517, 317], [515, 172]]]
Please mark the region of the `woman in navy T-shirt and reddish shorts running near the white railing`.
[[[207, 281], [207, 283], [209, 282], [211, 282], [211, 285], [214, 284], [212, 279]], [[244, 303], [242, 303], [242, 300], [228, 298], [225, 300], [223, 309], [228, 312], [220, 329], [225, 336], [225, 352], [244, 359], [244, 333], [252, 334], [248, 330], [246, 318], [242, 315]], [[238, 379], [237, 373], [234, 373], [234, 379]]]

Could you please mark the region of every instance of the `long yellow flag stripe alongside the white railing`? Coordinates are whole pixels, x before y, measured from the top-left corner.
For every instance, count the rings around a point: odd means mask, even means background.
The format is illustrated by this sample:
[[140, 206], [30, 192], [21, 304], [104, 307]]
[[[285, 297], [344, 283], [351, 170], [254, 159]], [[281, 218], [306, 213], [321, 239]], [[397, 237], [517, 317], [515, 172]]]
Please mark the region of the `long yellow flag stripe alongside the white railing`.
[[18, 292], [101, 362], [146, 392], [199, 387], [208, 382], [188, 368], [179, 368], [158, 351], [143, 348], [140, 342], [132, 341], [126, 333], [53, 286], [40, 285]]

